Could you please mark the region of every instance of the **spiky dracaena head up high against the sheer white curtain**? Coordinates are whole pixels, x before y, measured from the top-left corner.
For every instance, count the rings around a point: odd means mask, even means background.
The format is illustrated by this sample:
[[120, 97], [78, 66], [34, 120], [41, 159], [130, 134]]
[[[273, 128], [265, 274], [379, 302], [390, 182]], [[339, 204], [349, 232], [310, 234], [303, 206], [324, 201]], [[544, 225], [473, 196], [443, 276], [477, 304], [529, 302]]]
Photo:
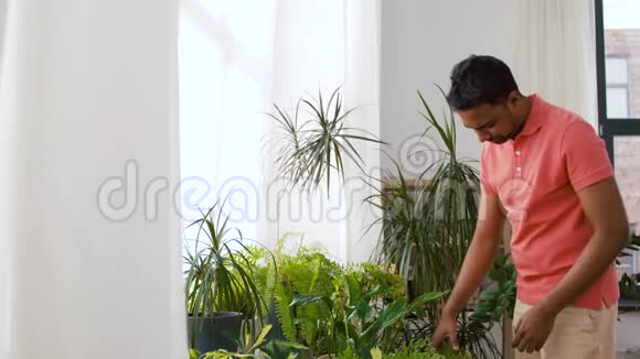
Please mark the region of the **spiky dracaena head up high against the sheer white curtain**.
[[267, 113], [280, 131], [273, 142], [278, 153], [276, 166], [292, 186], [316, 191], [326, 181], [329, 192], [333, 172], [344, 181], [346, 161], [364, 172], [359, 142], [384, 143], [371, 132], [348, 126], [354, 109], [344, 109], [342, 101], [339, 87], [329, 100], [319, 91], [317, 98], [300, 98], [292, 113], [277, 105]]

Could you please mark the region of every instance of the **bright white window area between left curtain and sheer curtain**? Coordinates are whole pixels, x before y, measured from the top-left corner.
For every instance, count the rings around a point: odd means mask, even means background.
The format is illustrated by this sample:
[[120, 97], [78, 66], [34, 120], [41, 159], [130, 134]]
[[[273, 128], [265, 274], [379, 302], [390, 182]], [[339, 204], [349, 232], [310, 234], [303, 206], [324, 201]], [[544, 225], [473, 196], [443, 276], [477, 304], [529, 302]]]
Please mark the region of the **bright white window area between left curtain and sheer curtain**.
[[[258, 237], [263, 124], [275, 1], [183, 0], [179, 32], [180, 172], [184, 237], [224, 202], [228, 228]], [[235, 229], [230, 237], [239, 236]], [[191, 244], [191, 243], [188, 243]]]

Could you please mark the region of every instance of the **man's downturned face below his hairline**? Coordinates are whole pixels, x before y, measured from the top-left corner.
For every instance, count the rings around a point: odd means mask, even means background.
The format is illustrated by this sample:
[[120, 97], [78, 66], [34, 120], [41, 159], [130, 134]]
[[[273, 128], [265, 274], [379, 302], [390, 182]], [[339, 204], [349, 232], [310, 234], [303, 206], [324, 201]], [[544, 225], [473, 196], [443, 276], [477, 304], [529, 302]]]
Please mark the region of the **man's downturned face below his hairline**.
[[520, 131], [516, 106], [519, 99], [511, 96], [498, 105], [483, 104], [469, 110], [458, 111], [462, 124], [476, 131], [480, 142], [490, 141], [501, 144], [513, 138]]

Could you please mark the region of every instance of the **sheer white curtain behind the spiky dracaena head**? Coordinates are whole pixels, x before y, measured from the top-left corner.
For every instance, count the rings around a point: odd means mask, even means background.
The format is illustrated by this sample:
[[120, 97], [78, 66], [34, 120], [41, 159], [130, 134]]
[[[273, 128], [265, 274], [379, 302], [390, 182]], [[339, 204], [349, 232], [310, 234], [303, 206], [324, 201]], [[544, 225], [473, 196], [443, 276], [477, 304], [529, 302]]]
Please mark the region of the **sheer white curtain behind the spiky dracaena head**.
[[[328, 97], [342, 87], [345, 108], [358, 107], [346, 124], [380, 134], [380, 2], [363, 0], [278, 2], [277, 31], [274, 46], [273, 98], [288, 108], [306, 94], [317, 96], [322, 90]], [[269, 123], [275, 124], [275, 123]], [[273, 131], [273, 129], [267, 129]], [[273, 134], [273, 132], [267, 132]], [[359, 145], [367, 175], [380, 165], [380, 151], [372, 145]], [[273, 168], [275, 155], [267, 156], [265, 173], [268, 184], [277, 173]], [[273, 186], [267, 199], [274, 207], [268, 213], [279, 214], [268, 221], [270, 240], [285, 232], [305, 236], [307, 243], [322, 244], [342, 261], [366, 261], [377, 232], [365, 237], [364, 229], [375, 218], [371, 206], [362, 200], [371, 187], [361, 180], [354, 163], [345, 166], [345, 181], [333, 181], [327, 193], [322, 184], [317, 194], [288, 192]], [[333, 180], [337, 180], [335, 174]], [[279, 182], [278, 182], [279, 183]]]

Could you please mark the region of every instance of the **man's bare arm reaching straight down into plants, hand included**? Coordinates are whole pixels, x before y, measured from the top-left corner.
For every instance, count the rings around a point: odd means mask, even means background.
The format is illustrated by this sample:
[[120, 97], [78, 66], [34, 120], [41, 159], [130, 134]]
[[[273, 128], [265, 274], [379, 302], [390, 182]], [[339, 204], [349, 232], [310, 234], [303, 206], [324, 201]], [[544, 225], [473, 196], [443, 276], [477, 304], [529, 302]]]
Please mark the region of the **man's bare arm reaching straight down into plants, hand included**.
[[442, 317], [431, 339], [436, 347], [445, 338], [449, 338], [454, 348], [458, 349], [456, 318], [480, 286], [495, 257], [495, 250], [504, 226], [504, 215], [500, 209], [497, 195], [482, 194], [479, 217], [473, 239], [465, 257], [465, 263], [460, 269], [451, 296], [442, 309]]

